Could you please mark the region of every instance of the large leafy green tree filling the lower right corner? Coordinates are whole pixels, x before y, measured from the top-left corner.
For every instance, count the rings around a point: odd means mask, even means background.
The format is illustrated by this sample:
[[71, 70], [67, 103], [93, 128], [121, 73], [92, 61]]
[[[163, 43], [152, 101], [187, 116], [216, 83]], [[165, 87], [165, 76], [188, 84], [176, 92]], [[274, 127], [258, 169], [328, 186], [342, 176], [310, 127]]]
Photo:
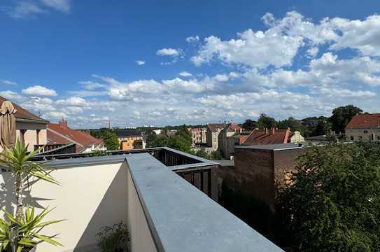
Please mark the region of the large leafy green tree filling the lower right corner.
[[312, 147], [279, 194], [292, 251], [380, 251], [380, 145]]

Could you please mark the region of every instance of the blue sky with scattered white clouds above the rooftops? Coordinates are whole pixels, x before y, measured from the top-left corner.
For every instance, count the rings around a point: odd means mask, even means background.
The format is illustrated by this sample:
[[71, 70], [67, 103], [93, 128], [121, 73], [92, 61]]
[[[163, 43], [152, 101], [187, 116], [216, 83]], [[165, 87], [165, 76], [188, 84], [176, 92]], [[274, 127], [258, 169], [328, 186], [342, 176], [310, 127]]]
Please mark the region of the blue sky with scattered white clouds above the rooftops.
[[73, 127], [380, 112], [379, 1], [0, 3], [0, 95]]

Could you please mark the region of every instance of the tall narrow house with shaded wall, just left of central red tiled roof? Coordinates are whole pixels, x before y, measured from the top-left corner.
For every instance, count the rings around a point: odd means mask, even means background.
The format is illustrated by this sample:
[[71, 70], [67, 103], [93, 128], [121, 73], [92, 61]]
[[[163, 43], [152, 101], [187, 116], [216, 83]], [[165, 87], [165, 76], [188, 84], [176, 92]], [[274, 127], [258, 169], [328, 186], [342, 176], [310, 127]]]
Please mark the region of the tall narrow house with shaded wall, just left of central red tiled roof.
[[219, 134], [219, 150], [227, 159], [234, 156], [234, 147], [240, 145], [243, 129], [236, 123], [228, 124]]

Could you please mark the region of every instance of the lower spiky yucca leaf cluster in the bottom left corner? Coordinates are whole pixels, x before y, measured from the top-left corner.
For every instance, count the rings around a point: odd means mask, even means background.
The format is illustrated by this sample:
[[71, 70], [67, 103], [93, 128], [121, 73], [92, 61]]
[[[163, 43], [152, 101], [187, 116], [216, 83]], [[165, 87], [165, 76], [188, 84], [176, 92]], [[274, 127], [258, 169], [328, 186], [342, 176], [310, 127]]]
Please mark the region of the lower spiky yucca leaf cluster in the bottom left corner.
[[52, 209], [43, 209], [43, 211], [39, 214], [36, 214], [34, 207], [30, 207], [29, 204], [24, 209], [25, 210], [21, 221], [14, 218], [13, 214], [3, 210], [8, 220], [6, 221], [0, 219], [0, 251], [6, 251], [8, 245], [10, 245], [8, 230], [15, 224], [19, 227], [19, 237], [16, 243], [17, 252], [22, 252], [25, 250], [29, 251], [29, 249], [33, 248], [37, 244], [40, 244], [41, 242], [48, 242], [54, 246], [63, 246], [55, 240], [57, 235], [41, 235], [41, 230], [48, 225], [59, 223], [64, 220], [43, 221], [43, 218], [45, 218], [45, 216], [48, 215]]

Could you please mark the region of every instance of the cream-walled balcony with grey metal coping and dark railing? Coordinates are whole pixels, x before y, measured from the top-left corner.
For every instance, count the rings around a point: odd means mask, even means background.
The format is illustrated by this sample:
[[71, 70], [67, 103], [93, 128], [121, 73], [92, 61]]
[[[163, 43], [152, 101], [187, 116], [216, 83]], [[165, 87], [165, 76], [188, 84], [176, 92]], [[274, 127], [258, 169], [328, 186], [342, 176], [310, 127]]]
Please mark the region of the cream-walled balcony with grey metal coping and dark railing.
[[[59, 157], [44, 165], [55, 168], [62, 186], [36, 183], [25, 197], [36, 207], [57, 207], [49, 218], [68, 220], [45, 230], [59, 233], [65, 247], [40, 244], [38, 252], [98, 251], [99, 229], [120, 221], [129, 227], [132, 252], [281, 251], [211, 200], [214, 162], [170, 148]], [[207, 170], [211, 176], [199, 174]], [[1, 173], [0, 207], [13, 211], [9, 179], [10, 174]]]

